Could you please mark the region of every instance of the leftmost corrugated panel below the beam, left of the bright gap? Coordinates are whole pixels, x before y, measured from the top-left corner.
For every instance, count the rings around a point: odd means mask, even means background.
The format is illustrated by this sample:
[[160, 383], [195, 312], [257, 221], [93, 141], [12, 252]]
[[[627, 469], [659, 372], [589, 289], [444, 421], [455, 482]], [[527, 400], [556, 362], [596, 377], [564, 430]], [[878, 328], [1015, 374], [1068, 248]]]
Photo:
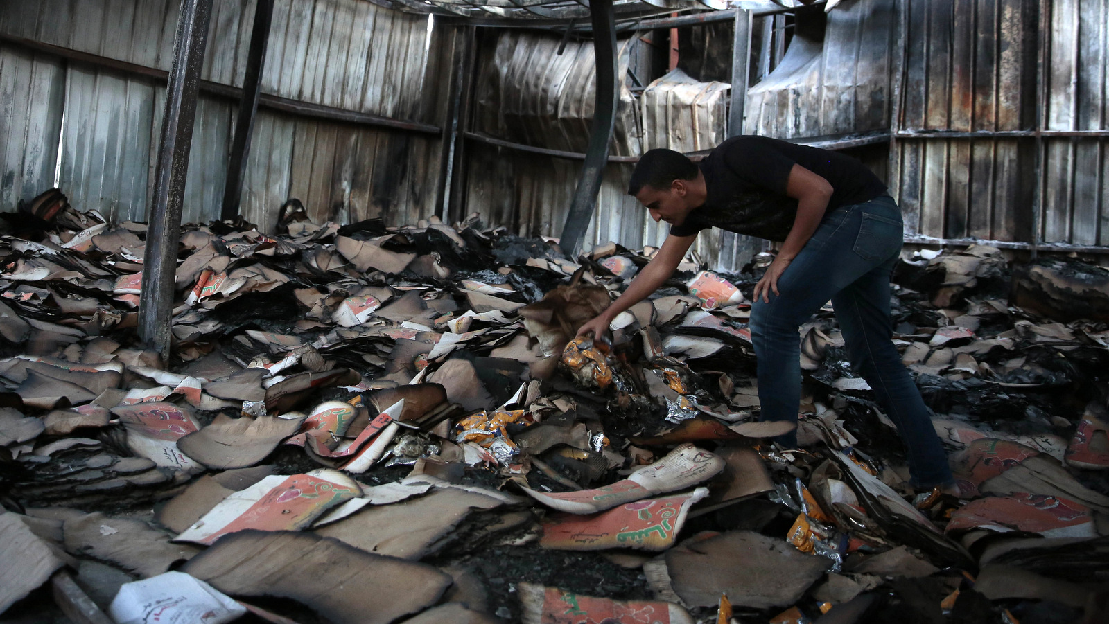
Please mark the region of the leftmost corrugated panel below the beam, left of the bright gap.
[[59, 61], [0, 45], [0, 206], [53, 185], [64, 90]]

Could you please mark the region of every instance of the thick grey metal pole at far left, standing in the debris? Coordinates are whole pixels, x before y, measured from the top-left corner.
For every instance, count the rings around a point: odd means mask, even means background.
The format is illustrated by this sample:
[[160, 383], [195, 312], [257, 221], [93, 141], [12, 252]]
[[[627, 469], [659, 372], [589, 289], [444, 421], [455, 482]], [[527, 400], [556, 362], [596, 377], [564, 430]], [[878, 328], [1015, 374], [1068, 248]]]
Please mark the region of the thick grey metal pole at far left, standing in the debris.
[[181, 0], [173, 67], [166, 88], [162, 140], [154, 171], [154, 197], [147, 215], [146, 254], [139, 298], [139, 337], [163, 361], [170, 356], [170, 314], [177, 268], [181, 204], [189, 171], [189, 149], [196, 115], [196, 91], [207, 42], [212, 0]]

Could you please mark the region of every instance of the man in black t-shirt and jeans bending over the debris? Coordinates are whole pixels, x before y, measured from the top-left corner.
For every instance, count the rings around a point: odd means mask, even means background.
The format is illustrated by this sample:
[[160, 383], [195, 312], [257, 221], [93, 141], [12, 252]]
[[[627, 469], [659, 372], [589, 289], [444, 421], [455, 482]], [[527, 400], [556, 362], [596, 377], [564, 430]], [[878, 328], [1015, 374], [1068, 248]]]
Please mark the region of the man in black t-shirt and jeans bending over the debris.
[[[892, 342], [889, 276], [902, 248], [902, 217], [877, 176], [836, 152], [736, 136], [700, 165], [671, 150], [647, 152], [628, 193], [655, 222], [669, 223], [670, 235], [624, 294], [579, 335], [596, 337], [654, 293], [703, 228], [784, 241], [755, 285], [751, 309], [762, 420], [797, 421], [797, 328], [831, 299], [852, 367], [905, 441], [912, 485], [954, 492], [928, 409]], [[796, 432], [776, 441], [795, 447]]]

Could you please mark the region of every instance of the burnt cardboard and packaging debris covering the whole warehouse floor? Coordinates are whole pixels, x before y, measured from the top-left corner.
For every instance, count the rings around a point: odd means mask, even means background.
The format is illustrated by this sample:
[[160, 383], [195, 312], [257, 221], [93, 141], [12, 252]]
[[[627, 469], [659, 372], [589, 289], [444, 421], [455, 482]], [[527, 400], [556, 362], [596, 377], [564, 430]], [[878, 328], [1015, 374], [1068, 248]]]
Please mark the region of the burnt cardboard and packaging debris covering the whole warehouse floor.
[[296, 208], [184, 227], [164, 365], [144, 225], [60, 192], [0, 215], [0, 622], [1109, 621], [1109, 272], [897, 268], [955, 498], [906, 485], [831, 308], [802, 448], [767, 442], [767, 258], [683, 264], [593, 345], [653, 249]]

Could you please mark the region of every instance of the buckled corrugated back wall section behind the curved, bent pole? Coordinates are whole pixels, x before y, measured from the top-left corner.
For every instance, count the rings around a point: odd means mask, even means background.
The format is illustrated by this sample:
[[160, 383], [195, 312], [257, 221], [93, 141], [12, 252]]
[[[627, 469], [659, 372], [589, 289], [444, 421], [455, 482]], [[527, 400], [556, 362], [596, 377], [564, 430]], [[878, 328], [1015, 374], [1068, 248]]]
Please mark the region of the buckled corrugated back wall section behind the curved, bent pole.
[[[596, 84], [593, 47], [559, 37], [500, 31], [478, 58], [475, 127], [498, 139], [536, 147], [584, 152], [589, 142]], [[638, 39], [620, 43], [618, 75], [627, 72]], [[624, 86], [617, 112], [613, 155], [641, 152], [637, 103]], [[470, 142], [466, 209], [486, 223], [522, 236], [558, 236], [581, 171], [581, 161], [531, 154]], [[659, 244], [665, 226], [627, 194], [629, 164], [604, 171], [594, 218], [584, 247], [615, 241], [630, 247]]]

